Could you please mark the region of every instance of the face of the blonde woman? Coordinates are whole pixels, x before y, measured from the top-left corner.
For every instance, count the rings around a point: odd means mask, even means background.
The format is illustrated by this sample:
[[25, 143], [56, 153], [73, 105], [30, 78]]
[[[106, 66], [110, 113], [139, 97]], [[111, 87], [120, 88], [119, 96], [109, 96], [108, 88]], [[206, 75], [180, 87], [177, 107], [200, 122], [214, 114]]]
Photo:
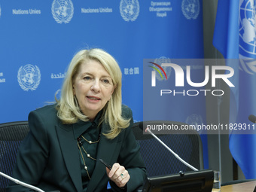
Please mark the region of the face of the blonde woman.
[[99, 61], [88, 60], [81, 64], [73, 82], [73, 93], [81, 111], [90, 120], [104, 108], [113, 92], [111, 76]]

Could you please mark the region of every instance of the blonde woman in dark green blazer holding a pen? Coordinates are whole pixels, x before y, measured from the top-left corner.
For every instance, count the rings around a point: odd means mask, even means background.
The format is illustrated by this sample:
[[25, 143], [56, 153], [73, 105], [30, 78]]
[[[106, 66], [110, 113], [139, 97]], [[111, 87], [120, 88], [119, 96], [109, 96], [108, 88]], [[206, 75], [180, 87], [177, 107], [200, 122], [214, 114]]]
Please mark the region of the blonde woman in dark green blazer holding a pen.
[[[81, 50], [70, 62], [61, 97], [29, 114], [29, 135], [20, 147], [14, 178], [42, 190], [133, 191], [146, 178], [121, 102], [121, 72], [104, 50]], [[102, 159], [110, 168], [107, 168]], [[28, 189], [11, 183], [8, 191]]]

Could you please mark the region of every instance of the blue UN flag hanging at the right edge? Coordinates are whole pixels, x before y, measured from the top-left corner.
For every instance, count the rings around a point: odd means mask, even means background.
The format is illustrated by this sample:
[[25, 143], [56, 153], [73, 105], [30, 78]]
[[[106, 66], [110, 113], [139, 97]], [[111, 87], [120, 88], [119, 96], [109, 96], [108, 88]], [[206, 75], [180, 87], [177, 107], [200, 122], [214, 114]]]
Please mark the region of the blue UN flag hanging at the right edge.
[[[230, 91], [230, 123], [251, 126], [251, 132], [230, 132], [230, 152], [245, 178], [256, 178], [256, 1], [227, 0], [218, 2], [213, 44], [226, 59], [237, 59], [227, 65], [235, 70]], [[238, 60], [239, 59], [239, 60]]]

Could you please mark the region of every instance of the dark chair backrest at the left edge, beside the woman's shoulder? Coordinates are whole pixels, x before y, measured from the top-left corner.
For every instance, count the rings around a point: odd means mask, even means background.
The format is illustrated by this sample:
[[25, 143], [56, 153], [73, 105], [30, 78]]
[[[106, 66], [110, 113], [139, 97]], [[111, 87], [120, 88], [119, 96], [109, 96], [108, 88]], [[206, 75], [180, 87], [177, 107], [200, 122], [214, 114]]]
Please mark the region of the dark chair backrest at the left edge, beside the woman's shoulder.
[[[29, 133], [27, 121], [0, 124], [0, 172], [12, 176], [20, 144]], [[9, 180], [0, 176], [0, 192], [5, 192]]]

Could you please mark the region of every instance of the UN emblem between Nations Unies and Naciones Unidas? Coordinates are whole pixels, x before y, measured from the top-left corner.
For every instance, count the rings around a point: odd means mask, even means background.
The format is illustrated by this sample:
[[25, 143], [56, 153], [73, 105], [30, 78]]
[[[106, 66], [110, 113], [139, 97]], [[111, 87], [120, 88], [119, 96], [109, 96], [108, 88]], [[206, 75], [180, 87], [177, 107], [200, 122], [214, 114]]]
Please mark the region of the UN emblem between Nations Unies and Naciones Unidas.
[[71, 0], [54, 0], [51, 6], [56, 23], [69, 23], [74, 14], [74, 7]]

